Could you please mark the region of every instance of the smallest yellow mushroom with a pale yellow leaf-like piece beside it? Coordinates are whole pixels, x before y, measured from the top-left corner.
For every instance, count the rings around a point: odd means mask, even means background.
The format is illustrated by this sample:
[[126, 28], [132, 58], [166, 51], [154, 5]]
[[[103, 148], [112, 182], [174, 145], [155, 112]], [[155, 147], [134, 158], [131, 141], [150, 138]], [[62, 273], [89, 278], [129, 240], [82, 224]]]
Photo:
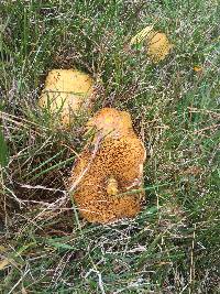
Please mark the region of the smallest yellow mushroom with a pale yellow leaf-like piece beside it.
[[154, 63], [163, 61], [173, 48], [166, 34], [154, 31], [153, 25], [144, 28], [133, 36], [130, 45], [140, 43], [146, 44], [146, 53]]

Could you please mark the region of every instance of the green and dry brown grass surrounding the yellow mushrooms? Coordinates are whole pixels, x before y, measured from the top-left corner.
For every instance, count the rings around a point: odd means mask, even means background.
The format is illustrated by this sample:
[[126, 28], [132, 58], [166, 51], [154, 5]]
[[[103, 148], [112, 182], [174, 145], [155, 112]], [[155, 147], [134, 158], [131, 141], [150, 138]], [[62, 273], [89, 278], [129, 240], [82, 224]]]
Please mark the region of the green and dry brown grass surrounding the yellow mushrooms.
[[[218, 1], [0, 7], [1, 293], [217, 293]], [[175, 46], [157, 65], [127, 50], [152, 23]], [[85, 118], [61, 132], [37, 98], [50, 69], [74, 66], [102, 80], [96, 109], [130, 111], [144, 139], [135, 219], [87, 224], [66, 194]]]

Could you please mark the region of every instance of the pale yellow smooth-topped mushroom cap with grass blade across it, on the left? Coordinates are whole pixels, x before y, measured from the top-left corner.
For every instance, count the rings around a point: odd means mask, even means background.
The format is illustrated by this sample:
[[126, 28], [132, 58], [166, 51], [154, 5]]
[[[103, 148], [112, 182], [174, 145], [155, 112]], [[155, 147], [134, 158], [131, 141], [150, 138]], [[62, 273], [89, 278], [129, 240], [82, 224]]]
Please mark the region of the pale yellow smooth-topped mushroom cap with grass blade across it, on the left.
[[53, 69], [48, 73], [38, 100], [59, 118], [62, 126], [69, 126], [80, 111], [89, 111], [94, 99], [92, 78], [77, 69]]

